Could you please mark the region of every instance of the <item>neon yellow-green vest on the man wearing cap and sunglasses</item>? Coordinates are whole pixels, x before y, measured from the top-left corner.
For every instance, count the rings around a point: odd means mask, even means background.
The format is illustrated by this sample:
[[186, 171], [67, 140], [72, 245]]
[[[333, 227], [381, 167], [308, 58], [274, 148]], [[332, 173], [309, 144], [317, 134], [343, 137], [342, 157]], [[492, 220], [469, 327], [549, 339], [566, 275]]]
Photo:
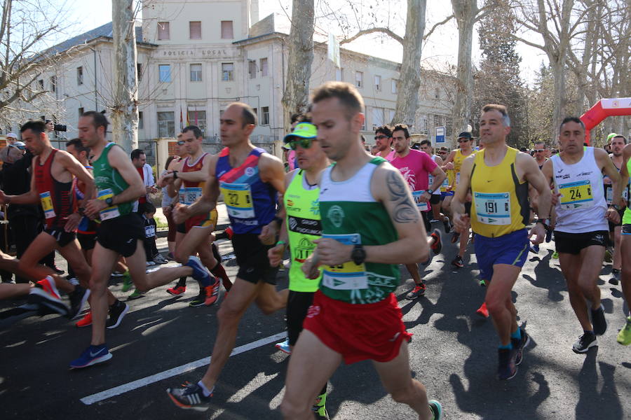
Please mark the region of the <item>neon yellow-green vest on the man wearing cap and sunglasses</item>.
[[290, 267], [290, 290], [294, 292], [315, 292], [318, 290], [318, 279], [307, 279], [302, 272], [304, 260], [311, 255], [315, 244], [322, 234], [320, 225], [320, 206], [318, 195], [320, 188], [306, 190], [303, 186], [302, 169], [294, 174], [285, 191], [283, 201], [287, 212], [287, 236], [289, 237], [292, 265]]

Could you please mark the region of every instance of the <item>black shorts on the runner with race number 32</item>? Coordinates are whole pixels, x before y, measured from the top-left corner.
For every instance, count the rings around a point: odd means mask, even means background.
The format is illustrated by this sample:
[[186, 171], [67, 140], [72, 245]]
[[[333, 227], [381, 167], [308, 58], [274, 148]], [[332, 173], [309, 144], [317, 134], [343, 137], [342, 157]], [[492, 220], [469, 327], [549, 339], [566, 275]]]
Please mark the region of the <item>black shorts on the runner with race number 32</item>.
[[273, 245], [264, 245], [256, 233], [240, 233], [232, 236], [232, 248], [239, 271], [237, 277], [250, 283], [264, 281], [276, 284], [278, 267], [269, 265], [267, 251]]

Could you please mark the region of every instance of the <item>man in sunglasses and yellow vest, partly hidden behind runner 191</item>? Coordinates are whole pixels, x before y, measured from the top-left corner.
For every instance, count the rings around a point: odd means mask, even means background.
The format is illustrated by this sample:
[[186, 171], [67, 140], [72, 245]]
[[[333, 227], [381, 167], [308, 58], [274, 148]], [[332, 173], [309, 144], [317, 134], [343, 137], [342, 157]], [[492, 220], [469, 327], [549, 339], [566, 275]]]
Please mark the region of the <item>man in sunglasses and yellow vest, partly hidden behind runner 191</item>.
[[[452, 187], [452, 190], [454, 191], [456, 190], [456, 188], [458, 187], [460, 183], [460, 168], [462, 166], [463, 160], [465, 160], [467, 156], [470, 156], [473, 153], [475, 153], [475, 151], [473, 151], [473, 137], [471, 137], [470, 132], [461, 132], [460, 134], [458, 134], [458, 144], [460, 148], [452, 151], [452, 153], [449, 153], [449, 156], [445, 160], [445, 165], [442, 165], [442, 169], [444, 171], [451, 170], [451, 169], [453, 169], [454, 171], [453, 172], [454, 177], [450, 180], [450, 184], [449, 184]], [[453, 209], [453, 207], [451, 206], [452, 200], [453, 200], [453, 196], [445, 197], [443, 207], [451, 207]], [[465, 206], [467, 207], [467, 210], [470, 209], [471, 207], [470, 197], [467, 198]], [[469, 213], [469, 211], [467, 211], [467, 213]], [[453, 216], [455, 217], [455, 215]], [[452, 244], [455, 244], [456, 241], [458, 241], [459, 239], [460, 239], [460, 245], [458, 248], [458, 255], [456, 255], [456, 258], [454, 258], [454, 260], [452, 260], [452, 265], [456, 268], [464, 267], [464, 262], [462, 259], [464, 258], [464, 254], [467, 251], [467, 244], [469, 241], [469, 230], [463, 230], [461, 232], [454, 232], [454, 235], [452, 235]]]

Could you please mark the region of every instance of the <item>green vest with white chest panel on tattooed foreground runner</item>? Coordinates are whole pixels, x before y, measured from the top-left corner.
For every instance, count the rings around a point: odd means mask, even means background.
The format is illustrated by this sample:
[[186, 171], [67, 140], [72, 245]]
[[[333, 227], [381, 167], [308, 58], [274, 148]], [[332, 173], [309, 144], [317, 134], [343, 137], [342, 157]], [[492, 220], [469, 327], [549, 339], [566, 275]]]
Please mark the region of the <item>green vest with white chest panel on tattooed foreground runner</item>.
[[[340, 182], [332, 181], [332, 166], [325, 169], [320, 182], [323, 237], [363, 246], [385, 245], [398, 239], [384, 204], [376, 201], [370, 191], [372, 174], [383, 162], [384, 158], [374, 158], [351, 179]], [[398, 265], [376, 262], [356, 265], [348, 261], [323, 266], [320, 290], [342, 302], [367, 304], [386, 299], [398, 285]]]

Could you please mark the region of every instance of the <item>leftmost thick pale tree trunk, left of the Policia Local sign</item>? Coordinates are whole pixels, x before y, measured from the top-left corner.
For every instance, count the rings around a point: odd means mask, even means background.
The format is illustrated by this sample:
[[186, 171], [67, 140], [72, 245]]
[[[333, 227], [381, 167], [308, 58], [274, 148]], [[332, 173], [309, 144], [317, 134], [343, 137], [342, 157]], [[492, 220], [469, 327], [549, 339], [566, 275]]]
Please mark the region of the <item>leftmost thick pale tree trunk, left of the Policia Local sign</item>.
[[138, 90], [133, 0], [111, 3], [114, 38], [114, 104], [112, 141], [130, 153], [138, 147]]

